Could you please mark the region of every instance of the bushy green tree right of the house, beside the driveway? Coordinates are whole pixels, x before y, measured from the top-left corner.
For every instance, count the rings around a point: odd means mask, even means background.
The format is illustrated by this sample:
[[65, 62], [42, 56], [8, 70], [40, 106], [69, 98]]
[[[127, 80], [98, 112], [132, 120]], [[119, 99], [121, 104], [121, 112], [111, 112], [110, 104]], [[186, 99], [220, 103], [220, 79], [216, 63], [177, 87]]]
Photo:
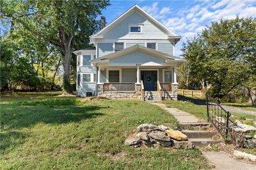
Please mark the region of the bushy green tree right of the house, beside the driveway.
[[190, 68], [189, 83], [202, 87], [202, 82], [207, 82], [211, 85], [209, 93], [222, 98], [252, 80], [256, 75], [255, 37], [255, 18], [212, 22], [200, 35], [183, 45], [183, 56], [189, 65], [187, 70]]

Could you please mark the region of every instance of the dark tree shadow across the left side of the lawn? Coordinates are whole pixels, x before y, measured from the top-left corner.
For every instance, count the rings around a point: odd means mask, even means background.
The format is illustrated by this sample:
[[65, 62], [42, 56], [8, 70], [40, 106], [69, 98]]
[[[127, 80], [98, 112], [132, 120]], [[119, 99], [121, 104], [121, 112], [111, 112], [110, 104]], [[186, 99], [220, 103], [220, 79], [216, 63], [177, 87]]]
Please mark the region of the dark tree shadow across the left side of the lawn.
[[1, 127], [4, 130], [31, 127], [36, 123], [63, 124], [103, 116], [99, 105], [77, 104], [76, 99], [24, 101], [4, 104], [1, 108]]

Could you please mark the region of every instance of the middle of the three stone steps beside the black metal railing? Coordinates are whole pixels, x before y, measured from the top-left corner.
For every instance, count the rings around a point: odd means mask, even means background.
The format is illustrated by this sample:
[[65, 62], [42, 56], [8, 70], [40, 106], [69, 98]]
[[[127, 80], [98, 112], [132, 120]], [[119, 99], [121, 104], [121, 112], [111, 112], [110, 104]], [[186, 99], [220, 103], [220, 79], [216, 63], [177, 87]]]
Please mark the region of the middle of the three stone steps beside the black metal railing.
[[186, 134], [188, 138], [211, 138], [216, 135], [216, 132], [204, 130], [182, 130], [182, 133]]

